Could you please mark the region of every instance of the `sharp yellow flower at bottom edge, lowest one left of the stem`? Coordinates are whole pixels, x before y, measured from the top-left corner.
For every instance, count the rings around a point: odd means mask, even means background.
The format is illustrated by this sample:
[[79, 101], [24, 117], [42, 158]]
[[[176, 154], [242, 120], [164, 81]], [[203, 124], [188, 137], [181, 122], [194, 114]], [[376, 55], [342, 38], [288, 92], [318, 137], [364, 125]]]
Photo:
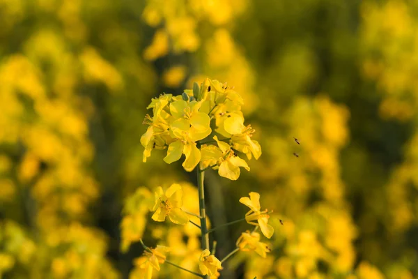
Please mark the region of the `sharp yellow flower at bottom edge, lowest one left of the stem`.
[[157, 248], [155, 249], [150, 248], [145, 250], [142, 257], [134, 260], [139, 271], [142, 271], [139, 274], [142, 273], [144, 279], [151, 279], [153, 277], [153, 269], [160, 271], [160, 264], [164, 264], [165, 259], [167, 258], [165, 253], [169, 252], [169, 250], [170, 248], [160, 245], [157, 245]]

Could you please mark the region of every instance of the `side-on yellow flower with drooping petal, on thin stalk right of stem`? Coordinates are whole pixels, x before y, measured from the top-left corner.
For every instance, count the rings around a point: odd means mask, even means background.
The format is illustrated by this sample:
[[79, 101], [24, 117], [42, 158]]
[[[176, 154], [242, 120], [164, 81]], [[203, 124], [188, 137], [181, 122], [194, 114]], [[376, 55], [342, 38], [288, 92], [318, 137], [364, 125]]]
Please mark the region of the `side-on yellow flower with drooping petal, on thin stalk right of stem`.
[[[241, 197], [240, 203], [245, 204], [250, 209], [247, 214], [245, 214], [245, 220], [247, 220], [247, 223], [260, 226], [261, 232], [263, 232], [264, 236], [270, 239], [274, 233], [274, 229], [272, 226], [268, 225], [268, 218], [270, 218], [267, 214], [268, 210], [260, 210], [260, 194], [251, 192], [249, 193], [249, 197]], [[254, 220], [257, 220], [258, 224], [254, 223]]]

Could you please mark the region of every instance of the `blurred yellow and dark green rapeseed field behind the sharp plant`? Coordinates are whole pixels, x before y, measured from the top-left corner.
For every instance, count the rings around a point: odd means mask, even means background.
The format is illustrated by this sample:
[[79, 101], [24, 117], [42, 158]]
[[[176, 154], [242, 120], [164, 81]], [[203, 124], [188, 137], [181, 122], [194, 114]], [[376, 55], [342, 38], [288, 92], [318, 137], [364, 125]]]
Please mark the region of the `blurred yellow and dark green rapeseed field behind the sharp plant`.
[[[139, 186], [184, 181], [195, 206], [196, 175], [139, 140], [151, 98], [206, 77], [263, 148], [238, 181], [208, 172], [210, 222], [250, 191], [274, 211], [268, 258], [223, 278], [417, 278], [417, 73], [418, 1], [0, 0], [0, 278], [127, 278], [139, 237], [197, 259], [190, 229], [120, 227]], [[215, 233], [219, 255], [245, 229]]]

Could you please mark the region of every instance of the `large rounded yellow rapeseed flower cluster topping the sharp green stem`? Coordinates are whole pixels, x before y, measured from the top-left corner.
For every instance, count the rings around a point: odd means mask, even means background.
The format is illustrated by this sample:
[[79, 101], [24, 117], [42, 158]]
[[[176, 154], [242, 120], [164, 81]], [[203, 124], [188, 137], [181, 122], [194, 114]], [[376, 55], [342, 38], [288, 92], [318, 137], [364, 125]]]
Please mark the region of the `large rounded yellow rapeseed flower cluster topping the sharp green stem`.
[[242, 104], [233, 87], [209, 79], [180, 96], [164, 93], [153, 99], [147, 107], [153, 115], [146, 115], [148, 129], [141, 137], [144, 162], [154, 149], [167, 149], [164, 162], [168, 164], [184, 155], [187, 172], [201, 162], [204, 168], [217, 169], [220, 176], [238, 179], [240, 167], [249, 171], [238, 153], [247, 159], [261, 156], [260, 144], [251, 139], [255, 130], [244, 125]]

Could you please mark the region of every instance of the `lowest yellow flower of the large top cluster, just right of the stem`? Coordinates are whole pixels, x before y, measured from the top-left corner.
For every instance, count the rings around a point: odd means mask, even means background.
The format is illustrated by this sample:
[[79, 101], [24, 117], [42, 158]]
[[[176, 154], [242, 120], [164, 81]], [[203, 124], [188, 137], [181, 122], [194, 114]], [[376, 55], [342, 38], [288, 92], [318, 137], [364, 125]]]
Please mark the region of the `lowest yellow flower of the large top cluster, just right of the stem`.
[[240, 177], [240, 167], [244, 167], [249, 171], [247, 162], [238, 157], [229, 144], [219, 141], [217, 136], [213, 137], [213, 139], [217, 142], [219, 148], [214, 145], [203, 146], [201, 149], [203, 165], [216, 164], [217, 167], [219, 166], [219, 175], [231, 180], [237, 180]]

